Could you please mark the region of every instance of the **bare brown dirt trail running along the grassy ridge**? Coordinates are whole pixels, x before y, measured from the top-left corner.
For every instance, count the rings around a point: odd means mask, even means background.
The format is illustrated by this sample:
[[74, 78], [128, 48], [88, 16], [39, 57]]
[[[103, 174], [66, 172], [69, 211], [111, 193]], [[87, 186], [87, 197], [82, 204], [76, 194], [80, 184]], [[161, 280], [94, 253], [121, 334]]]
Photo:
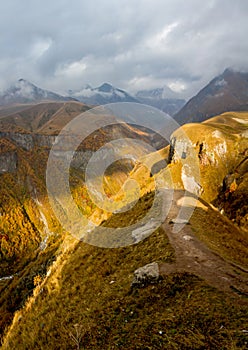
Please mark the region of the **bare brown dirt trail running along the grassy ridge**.
[[162, 225], [175, 249], [176, 262], [160, 264], [161, 275], [189, 272], [205, 279], [220, 290], [248, 296], [248, 270], [225, 261], [211, 251], [193, 234], [190, 224], [185, 225], [178, 233], [173, 232], [175, 224], [172, 221], [178, 216], [180, 209], [178, 204], [183, 196], [183, 191], [174, 192], [169, 215]]

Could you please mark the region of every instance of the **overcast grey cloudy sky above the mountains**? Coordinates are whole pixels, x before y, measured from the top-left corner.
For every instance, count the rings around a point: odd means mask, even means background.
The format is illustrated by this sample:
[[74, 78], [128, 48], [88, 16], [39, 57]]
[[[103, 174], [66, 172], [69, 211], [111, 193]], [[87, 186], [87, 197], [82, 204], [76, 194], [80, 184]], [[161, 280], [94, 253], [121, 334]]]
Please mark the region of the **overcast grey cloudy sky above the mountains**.
[[247, 17], [246, 0], [1, 1], [0, 88], [167, 85], [189, 98], [227, 67], [248, 71]]

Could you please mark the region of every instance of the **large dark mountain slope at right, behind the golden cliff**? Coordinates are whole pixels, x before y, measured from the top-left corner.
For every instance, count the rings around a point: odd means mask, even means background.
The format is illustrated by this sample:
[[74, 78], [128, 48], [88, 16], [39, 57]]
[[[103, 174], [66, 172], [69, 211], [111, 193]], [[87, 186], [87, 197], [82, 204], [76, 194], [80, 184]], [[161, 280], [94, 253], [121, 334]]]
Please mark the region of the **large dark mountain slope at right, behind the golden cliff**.
[[204, 121], [228, 111], [248, 110], [248, 73], [226, 69], [175, 114], [181, 123]]

